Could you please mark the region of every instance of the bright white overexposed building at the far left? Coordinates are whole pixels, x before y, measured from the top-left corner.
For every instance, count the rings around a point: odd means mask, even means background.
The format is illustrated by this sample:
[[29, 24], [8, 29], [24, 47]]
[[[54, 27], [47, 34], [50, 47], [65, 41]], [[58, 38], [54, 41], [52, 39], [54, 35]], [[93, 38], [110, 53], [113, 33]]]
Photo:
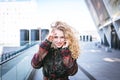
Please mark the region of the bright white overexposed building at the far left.
[[[20, 46], [20, 29], [40, 26], [37, 11], [37, 7], [32, 0], [0, 1], [0, 45]], [[23, 33], [28, 34], [26, 31]]]

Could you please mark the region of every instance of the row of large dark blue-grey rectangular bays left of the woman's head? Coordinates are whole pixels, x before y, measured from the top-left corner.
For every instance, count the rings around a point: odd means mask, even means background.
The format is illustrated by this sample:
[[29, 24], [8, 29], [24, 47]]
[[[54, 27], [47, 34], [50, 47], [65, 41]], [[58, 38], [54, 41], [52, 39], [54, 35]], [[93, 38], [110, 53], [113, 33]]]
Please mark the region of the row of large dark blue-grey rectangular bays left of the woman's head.
[[49, 29], [20, 29], [20, 46], [43, 41]]

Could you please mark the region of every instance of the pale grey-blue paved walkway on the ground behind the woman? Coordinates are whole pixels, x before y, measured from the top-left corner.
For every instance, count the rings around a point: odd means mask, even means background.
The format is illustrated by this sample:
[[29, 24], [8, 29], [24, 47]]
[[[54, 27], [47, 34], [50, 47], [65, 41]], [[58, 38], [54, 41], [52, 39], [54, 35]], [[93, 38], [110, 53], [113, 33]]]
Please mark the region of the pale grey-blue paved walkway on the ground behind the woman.
[[[80, 45], [79, 71], [70, 80], [120, 80], [119, 50], [107, 50], [93, 42], [81, 42]], [[36, 71], [33, 80], [42, 80], [41, 69]]]

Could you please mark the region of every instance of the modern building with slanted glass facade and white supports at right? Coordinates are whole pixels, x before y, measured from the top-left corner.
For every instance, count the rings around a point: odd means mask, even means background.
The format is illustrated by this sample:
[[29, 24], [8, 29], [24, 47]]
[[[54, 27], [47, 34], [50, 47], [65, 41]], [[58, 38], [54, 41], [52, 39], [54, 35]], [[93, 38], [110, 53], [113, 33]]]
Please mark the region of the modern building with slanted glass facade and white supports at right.
[[120, 50], [120, 0], [85, 0], [101, 44]]

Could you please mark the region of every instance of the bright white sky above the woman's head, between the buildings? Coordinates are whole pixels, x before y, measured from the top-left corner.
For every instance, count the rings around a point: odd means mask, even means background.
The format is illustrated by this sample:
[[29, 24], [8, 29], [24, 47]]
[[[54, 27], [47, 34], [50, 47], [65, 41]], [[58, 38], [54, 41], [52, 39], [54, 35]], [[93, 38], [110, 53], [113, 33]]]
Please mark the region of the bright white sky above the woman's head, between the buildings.
[[84, 0], [37, 0], [40, 24], [64, 21], [79, 31], [96, 30]]

